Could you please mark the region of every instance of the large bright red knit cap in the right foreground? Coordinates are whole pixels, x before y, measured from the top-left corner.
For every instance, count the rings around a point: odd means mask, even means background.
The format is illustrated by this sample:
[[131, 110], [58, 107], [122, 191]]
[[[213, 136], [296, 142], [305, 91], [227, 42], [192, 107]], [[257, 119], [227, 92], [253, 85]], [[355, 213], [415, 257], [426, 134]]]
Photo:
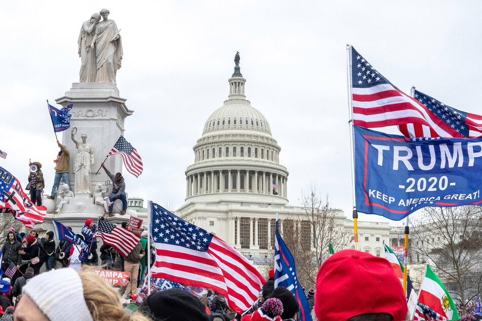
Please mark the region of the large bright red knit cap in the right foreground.
[[404, 320], [407, 305], [390, 263], [355, 250], [329, 257], [316, 276], [315, 313], [320, 320], [346, 321], [364, 313], [389, 313]]

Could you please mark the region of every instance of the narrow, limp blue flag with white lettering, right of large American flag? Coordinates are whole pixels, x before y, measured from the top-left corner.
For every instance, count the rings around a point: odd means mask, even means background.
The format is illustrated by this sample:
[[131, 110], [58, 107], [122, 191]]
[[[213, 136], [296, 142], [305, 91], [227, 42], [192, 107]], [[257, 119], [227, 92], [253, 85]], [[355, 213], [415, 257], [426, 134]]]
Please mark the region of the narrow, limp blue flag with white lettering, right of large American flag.
[[[294, 258], [284, 244], [279, 233], [279, 222], [276, 218], [276, 240], [275, 240], [275, 288], [283, 287], [288, 289], [300, 305], [300, 320], [312, 321], [310, 305], [306, 299], [305, 292], [298, 281]], [[291, 316], [290, 316], [291, 317]]]

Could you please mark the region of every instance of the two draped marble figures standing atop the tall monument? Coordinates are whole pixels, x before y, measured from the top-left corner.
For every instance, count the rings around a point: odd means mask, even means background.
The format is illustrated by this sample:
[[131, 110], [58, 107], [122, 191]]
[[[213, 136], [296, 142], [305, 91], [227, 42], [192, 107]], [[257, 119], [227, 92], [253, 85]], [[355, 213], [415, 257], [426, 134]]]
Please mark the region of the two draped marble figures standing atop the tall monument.
[[82, 24], [78, 41], [81, 83], [116, 82], [123, 55], [122, 39], [116, 22], [108, 16], [109, 11], [102, 9]]

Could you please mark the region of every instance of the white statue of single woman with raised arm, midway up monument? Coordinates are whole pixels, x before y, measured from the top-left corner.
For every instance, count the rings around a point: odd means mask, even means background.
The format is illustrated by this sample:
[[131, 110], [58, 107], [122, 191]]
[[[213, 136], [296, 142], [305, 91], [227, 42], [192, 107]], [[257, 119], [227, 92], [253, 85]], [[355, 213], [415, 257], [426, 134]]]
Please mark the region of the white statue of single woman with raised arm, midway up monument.
[[[74, 132], [75, 130], [75, 132]], [[87, 142], [87, 133], [81, 134], [82, 142], [75, 139], [77, 128], [73, 127], [70, 132], [70, 138], [76, 144], [77, 156], [74, 164], [73, 173], [75, 174], [75, 185], [73, 191], [78, 194], [91, 193], [92, 183], [90, 180], [91, 168], [94, 165], [95, 148]]]

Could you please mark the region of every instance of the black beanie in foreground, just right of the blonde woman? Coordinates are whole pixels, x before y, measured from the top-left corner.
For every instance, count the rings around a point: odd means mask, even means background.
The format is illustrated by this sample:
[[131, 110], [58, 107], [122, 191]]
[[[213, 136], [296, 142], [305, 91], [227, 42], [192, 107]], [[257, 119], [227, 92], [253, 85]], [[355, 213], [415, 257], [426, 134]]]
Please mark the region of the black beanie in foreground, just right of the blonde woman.
[[146, 297], [141, 312], [150, 312], [153, 320], [209, 321], [206, 306], [191, 293], [181, 289], [169, 289]]

